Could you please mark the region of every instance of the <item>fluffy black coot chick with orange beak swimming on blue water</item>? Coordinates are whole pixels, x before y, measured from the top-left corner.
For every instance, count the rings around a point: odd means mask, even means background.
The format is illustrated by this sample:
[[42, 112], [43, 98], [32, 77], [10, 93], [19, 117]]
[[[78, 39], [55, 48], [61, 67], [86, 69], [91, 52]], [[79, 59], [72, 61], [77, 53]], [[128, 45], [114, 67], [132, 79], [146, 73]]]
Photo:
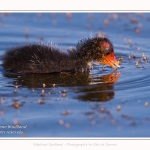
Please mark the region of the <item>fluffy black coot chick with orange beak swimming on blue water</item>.
[[119, 67], [113, 45], [103, 37], [83, 39], [77, 43], [75, 50], [66, 53], [41, 44], [15, 47], [6, 51], [2, 66], [16, 73], [75, 73], [89, 72], [91, 61]]

